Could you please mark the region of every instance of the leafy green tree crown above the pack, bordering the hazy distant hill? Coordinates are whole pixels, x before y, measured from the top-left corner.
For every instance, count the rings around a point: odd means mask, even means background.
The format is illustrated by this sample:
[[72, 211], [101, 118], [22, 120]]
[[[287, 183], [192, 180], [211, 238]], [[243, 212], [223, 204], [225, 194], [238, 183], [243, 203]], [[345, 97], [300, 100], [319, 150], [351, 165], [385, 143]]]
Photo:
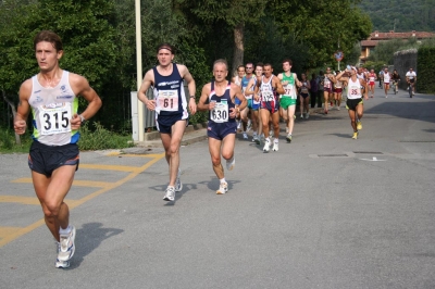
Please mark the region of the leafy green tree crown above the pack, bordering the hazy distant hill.
[[275, 17], [282, 35], [303, 46], [303, 51], [310, 55], [308, 66], [315, 67], [335, 61], [333, 54], [338, 45], [345, 53], [343, 61], [348, 62], [346, 58], [352, 55], [356, 42], [370, 35], [370, 18], [353, 2], [274, 0], [266, 14]]

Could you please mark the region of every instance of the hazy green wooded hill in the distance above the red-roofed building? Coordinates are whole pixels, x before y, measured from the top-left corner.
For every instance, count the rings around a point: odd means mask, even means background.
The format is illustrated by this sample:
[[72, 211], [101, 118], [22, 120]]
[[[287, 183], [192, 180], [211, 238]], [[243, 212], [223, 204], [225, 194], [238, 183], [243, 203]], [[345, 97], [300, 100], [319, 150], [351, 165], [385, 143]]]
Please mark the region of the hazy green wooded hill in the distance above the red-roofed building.
[[435, 32], [435, 0], [362, 0], [373, 32]]

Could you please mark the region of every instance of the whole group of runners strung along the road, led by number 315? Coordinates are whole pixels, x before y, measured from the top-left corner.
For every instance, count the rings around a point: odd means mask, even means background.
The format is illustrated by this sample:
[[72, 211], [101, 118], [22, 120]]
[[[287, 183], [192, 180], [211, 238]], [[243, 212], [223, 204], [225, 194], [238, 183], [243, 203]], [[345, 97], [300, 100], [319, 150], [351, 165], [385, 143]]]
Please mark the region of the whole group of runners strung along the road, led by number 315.
[[[34, 38], [34, 49], [39, 73], [25, 80], [20, 88], [14, 130], [18, 135], [25, 134], [26, 120], [32, 112], [34, 141], [28, 165], [46, 225], [58, 243], [54, 265], [66, 268], [75, 252], [76, 230], [70, 224], [69, 206], [64, 199], [78, 169], [79, 128], [98, 112], [102, 102], [85, 77], [59, 66], [63, 48], [57, 34], [40, 32]], [[293, 63], [289, 59], [283, 61], [283, 73], [277, 76], [269, 63], [258, 63], [256, 66], [247, 63], [238, 67], [238, 75], [233, 81], [227, 80], [226, 61], [216, 60], [213, 80], [202, 87], [197, 103], [195, 79], [185, 65], [173, 62], [174, 55], [171, 45], [160, 45], [157, 49], [159, 64], [146, 73], [138, 91], [138, 99], [148, 110], [156, 111], [157, 128], [169, 165], [169, 185], [163, 196], [165, 201], [175, 201], [175, 193], [183, 189], [179, 147], [189, 113], [209, 111], [207, 134], [212, 168], [220, 180], [217, 194], [228, 191], [222, 158], [227, 171], [232, 171], [236, 164], [234, 148], [237, 117], [245, 123], [250, 117], [254, 130], [252, 140], [257, 143], [260, 143], [260, 135], [264, 135], [264, 152], [271, 148], [278, 151], [279, 116], [286, 122], [286, 139], [291, 141], [297, 96], [301, 98], [301, 117], [309, 117], [310, 83], [304, 75], [299, 80], [291, 73]], [[323, 80], [325, 112], [333, 84], [341, 89], [347, 86], [346, 104], [353, 128], [352, 137], [356, 139], [358, 130], [362, 128], [362, 95], [368, 98], [368, 89], [363, 89], [366, 87], [365, 79], [360, 77], [356, 67], [348, 67], [337, 75], [326, 70]], [[188, 96], [184, 90], [184, 81], [187, 83]], [[146, 96], [149, 88], [153, 89], [153, 99]], [[88, 102], [82, 113], [78, 112], [78, 97]], [[244, 129], [246, 134], [246, 126]]]

